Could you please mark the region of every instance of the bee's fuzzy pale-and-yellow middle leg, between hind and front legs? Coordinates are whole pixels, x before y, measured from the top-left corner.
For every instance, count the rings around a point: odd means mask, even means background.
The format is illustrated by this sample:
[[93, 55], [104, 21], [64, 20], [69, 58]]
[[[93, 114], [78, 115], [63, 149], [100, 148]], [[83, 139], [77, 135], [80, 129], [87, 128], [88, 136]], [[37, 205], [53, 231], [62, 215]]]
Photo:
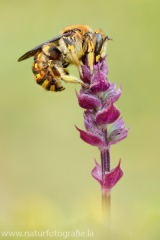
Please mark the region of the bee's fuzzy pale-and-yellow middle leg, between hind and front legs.
[[74, 46], [73, 46], [73, 44], [72, 44], [66, 37], [63, 37], [63, 38], [60, 40], [60, 43], [61, 43], [62, 49], [64, 49], [64, 54], [65, 54], [65, 58], [66, 58], [65, 60], [66, 60], [66, 62], [71, 62], [71, 63], [73, 63], [74, 65], [76, 65], [76, 66], [78, 67], [80, 76], [83, 77], [81, 64], [80, 64], [80, 61], [79, 61], [79, 59], [77, 58], [77, 56], [76, 56], [76, 54], [75, 54], [75, 52], [74, 52]]

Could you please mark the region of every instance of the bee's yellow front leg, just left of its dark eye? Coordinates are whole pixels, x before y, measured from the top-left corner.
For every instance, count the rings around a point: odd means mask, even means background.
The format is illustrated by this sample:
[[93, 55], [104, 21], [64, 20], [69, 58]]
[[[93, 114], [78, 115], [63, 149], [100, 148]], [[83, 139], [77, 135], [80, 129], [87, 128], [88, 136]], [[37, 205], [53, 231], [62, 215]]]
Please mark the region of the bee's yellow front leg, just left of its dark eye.
[[90, 36], [89, 33], [85, 35], [84, 38], [84, 43], [83, 43], [83, 51], [88, 52], [87, 57], [88, 57], [88, 65], [90, 67], [91, 72], [93, 72], [93, 62], [94, 62], [94, 44], [92, 37]]

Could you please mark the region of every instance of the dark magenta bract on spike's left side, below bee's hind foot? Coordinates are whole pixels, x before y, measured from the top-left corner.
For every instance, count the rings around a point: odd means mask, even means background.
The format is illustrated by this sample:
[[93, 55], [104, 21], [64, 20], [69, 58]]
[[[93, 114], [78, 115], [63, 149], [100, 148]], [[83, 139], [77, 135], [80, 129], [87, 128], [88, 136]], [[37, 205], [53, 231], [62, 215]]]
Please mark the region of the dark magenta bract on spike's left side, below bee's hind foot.
[[93, 109], [101, 106], [100, 99], [94, 95], [81, 94], [79, 95], [76, 91], [79, 106], [85, 109]]

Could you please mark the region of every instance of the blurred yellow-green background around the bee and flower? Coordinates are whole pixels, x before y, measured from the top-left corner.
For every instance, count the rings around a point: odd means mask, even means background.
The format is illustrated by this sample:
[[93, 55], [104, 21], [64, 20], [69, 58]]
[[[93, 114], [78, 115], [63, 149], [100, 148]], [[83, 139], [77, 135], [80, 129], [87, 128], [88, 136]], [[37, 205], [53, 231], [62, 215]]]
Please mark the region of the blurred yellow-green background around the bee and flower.
[[[159, 9], [158, 0], [0, 1], [0, 230], [89, 229], [96, 240], [160, 239]], [[100, 185], [90, 174], [99, 151], [74, 127], [84, 129], [80, 86], [44, 91], [33, 80], [33, 59], [17, 62], [73, 24], [102, 28], [114, 39], [108, 78], [117, 88], [122, 82], [116, 105], [131, 126], [111, 148], [111, 167], [121, 158], [124, 176], [112, 190], [110, 237]], [[69, 71], [78, 77], [76, 67]]]

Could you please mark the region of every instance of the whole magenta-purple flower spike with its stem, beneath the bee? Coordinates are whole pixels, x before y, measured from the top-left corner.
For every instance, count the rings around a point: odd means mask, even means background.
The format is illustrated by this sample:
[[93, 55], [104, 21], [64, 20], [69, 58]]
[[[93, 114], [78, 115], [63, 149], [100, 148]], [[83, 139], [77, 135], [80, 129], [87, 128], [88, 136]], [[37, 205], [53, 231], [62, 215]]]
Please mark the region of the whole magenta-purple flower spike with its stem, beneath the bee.
[[[102, 208], [104, 211], [107, 209], [108, 214], [111, 189], [123, 176], [121, 160], [116, 168], [110, 170], [110, 147], [126, 138], [129, 128], [125, 129], [120, 110], [114, 105], [121, 96], [122, 84], [116, 90], [115, 83], [111, 84], [108, 81], [105, 58], [106, 56], [100, 58], [97, 64], [93, 64], [93, 74], [89, 68], [88, 57], [82, 59], [84, 65], [81, 66], [83, 73], [81, 79], [87, 84], [88, 89], [82, 86], [80, 94], [76, 92], [76, 95], [79, 106], [86, 109], [83, 115], [86, 131], [76, 128], [84, 142], [100, 150], [101, 165], [95, 160], [96, 166], [91, 174], [101, 185]], [[112, 124], [110, 128], [109, 124]]]

